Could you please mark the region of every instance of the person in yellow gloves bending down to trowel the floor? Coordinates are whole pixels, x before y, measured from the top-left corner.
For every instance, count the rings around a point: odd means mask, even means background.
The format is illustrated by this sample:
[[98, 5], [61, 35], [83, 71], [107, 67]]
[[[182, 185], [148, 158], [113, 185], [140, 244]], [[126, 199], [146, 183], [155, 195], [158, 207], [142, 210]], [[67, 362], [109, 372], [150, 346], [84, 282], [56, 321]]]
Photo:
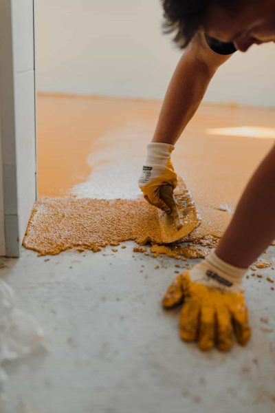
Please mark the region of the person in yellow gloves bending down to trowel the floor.
[[[245, 52], [253, 43], [275, 42], [275, 3], [256, 1], [253, 8], [250, 2], [234, 0], [225, 4], [196, 0], [162, 3], [166, 32], [175, 30], [175, 42], [186, 50], [166, 92], [139, 185], [146, 200], [170, 216], [174, 205], [171, 189], [177, 185], [170, 162], [173, 145], [195, 114], [218, 67], [236, 50]], [[228, 350], [233, 329], [239, 343], [244, 345], [250, 338], [241, 280], [275, 239], [274, 182], [275, 146], [248, 183], [216, 251], [179, 275], [164, 297], [165, 308], [184, 304], [181, 338], [199, 341], [201, 349], [217, 344], [220, 350]]]

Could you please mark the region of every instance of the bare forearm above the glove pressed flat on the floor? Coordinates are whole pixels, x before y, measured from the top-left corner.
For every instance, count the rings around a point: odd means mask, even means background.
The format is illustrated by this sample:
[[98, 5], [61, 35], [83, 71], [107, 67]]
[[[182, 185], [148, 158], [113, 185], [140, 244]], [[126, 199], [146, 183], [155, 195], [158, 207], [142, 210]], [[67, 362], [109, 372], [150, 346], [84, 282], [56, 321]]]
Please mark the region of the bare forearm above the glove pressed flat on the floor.
[[275, 145], [248, 182], [217, 247], [217, 255], [246, 268], [275, 239]]

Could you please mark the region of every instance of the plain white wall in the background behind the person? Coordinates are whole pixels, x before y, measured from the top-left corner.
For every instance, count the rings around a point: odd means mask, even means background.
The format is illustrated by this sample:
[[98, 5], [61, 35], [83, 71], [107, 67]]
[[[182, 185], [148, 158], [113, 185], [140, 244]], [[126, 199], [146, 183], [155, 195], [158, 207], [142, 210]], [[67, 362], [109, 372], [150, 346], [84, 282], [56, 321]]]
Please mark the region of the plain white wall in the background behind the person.
[[[181, 52], [160, 26], [160, 0], [34, 0], [43, 92], [163, 98]], [[275, 45], [236, 53], [206, 101], [275, 105]]]

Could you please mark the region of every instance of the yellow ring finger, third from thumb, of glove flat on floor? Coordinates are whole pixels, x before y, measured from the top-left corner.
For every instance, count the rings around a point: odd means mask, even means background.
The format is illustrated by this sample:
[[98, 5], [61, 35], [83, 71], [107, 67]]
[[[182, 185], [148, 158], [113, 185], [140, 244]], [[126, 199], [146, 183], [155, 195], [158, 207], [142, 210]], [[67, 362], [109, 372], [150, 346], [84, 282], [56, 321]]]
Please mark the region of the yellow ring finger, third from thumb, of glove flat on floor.
[[225, 306], [217, 308], [217, 348], [228, 351], [233, 346], [233, 328], [231, 315]]

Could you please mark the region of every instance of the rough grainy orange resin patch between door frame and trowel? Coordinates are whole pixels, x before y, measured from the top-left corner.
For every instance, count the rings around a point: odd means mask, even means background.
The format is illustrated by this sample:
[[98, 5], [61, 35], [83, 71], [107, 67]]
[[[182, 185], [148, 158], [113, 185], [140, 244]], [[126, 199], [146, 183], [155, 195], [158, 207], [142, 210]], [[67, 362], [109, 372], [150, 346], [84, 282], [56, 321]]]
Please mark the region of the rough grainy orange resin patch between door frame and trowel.
[[[198, 224], [193, 222], [193, 228]], [[71, 248], [96, 252], [129, 240], [162, 243], [157, 209], [142, 198], [44, 198], [34, 205], [23, 246], [55, 255]]]

